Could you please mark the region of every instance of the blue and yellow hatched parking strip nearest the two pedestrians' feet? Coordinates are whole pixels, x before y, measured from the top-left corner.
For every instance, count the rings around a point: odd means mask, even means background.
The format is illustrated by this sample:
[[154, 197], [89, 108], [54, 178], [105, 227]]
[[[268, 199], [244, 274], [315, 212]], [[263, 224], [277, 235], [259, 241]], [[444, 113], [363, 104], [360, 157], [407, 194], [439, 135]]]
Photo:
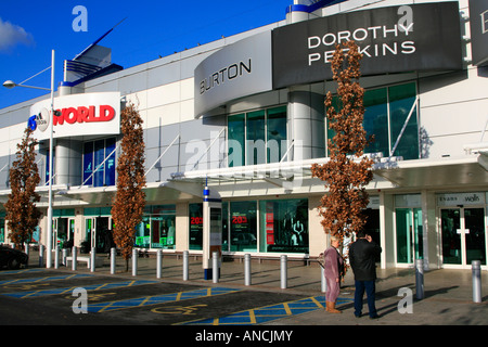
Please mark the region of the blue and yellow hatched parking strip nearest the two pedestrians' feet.
[[[338, 298], [337, 305], [352, 303], [352, 299]], [[295, 301], [281, 303], [260, 308], [254, 308], [219, 318], [201, 319], [179, 323], [178, 325], [254, 325], [284, 317], [301, 314], [324, 308], [324, 296], [308, 297]]]

